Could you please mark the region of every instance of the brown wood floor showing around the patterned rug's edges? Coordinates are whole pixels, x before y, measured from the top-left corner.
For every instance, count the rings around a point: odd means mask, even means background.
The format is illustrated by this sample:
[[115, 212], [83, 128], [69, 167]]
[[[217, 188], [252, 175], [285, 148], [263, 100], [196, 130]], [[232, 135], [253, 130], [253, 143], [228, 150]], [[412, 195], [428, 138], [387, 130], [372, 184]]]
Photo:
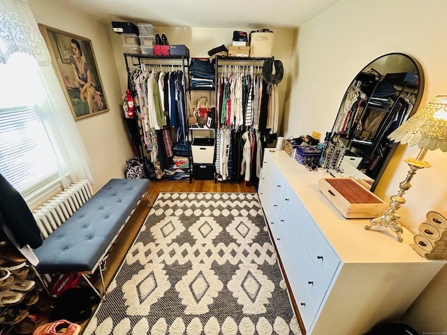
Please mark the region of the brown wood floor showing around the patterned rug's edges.
[[[245, 186], [244, 183], [230, 184], [217, 182], [213, 180], [189, 180], [184, 181], [152, 181], [147, 189], [149, 198], [154, 202], [162, 192], [207, 192], [207, 193], [246, 193], [255, 192], [253, 186]], [[131, 247], [136, 235], [140, 231], [142, 223], [145, 221], [151, 204], [146, 198], [143, 198], [138, 207], [133, 212], [131, 218], [124, 226], [122, 232], [117, 237], [115, 243], [109, 251], [106, 269], [104, 271], [105, 287], [108, 287], [112, 279], [115, 277], [119, 266], [124, 260], [124, 256]], [[101, 281], [96, 281], [96, 287], [102, 291]], [[88, 320], [82, 323], [82, 330], [87, 326]]]

